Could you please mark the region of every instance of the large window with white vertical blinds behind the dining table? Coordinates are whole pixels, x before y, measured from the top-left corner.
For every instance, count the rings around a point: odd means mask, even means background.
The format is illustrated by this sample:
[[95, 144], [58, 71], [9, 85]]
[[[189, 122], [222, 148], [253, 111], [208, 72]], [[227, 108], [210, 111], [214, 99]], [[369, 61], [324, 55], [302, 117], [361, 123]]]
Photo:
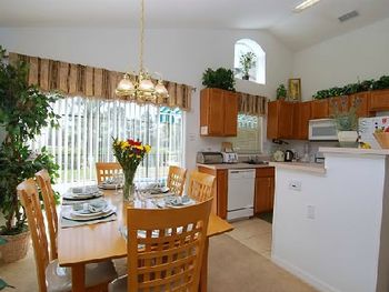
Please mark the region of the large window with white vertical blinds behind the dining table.
[[60, 128], [46, 129], [32, 147], [44, 145], [52, 153], [60, 165], [58, 182], [96, 180], [97, 161], [116, 161], [112, 137], [134, 138], [152, 147], [138, 167], [138, 181], [163, 180], [169, 164], [182, 165], [183, 123], [179, 109], [79, 97], [58, 100], [53, 108], [62, 117]]

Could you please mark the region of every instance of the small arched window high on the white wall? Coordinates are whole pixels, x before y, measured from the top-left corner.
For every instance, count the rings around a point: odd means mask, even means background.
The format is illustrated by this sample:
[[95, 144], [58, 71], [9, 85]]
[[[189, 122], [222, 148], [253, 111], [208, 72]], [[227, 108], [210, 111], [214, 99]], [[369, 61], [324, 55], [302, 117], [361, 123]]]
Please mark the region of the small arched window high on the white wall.
[[243, 79], [243, 67], [240, 62], [241, 58], [248, 56], [248, 53], [255, 56], [255, 64], [248, 71], [249, 80], [257, 83], [266, 83], [266, 53], [262, 48], [253, 40], [241, 39], [235, 43], [235, 60], [233, 68], [236, 69], [236, 78]]

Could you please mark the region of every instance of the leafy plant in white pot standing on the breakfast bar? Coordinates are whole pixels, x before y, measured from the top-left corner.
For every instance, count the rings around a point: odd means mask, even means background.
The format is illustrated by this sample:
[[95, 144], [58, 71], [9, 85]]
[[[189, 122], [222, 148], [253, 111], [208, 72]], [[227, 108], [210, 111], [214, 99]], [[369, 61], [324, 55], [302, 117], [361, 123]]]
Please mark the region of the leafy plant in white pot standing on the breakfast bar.
[[360, 99], [355, 99], [350, 108], [347, 108], [347, 97], [342, 97], [341, 104], [335, 99], [330, 100], [332, 107], [331, 118], [335, 119], [338, 140], [340, 147], [356, 148], [358, 147], [358, 115], [357, 110]]

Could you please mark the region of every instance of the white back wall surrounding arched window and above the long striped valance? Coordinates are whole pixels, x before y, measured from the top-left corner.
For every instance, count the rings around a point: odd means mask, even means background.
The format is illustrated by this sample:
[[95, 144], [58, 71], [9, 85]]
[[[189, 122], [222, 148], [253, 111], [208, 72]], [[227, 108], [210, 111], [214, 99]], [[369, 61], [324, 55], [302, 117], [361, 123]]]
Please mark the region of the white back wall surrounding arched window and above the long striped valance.
[[[89, 64], [118, 71], [138, 70], [138, 30], [124, 29], [0, 29], [0, 44], [9, 51]], [[292, 53], [263, 31], [147, 30], [144, 66], [163, 78], [197, 88], [187, 114], [186, 164], [194, 168], [196, 152], [220, 149], [220, 138], [199, 137], [199, 92], [208, 68], [233, 67], [233, 44], [250, 38], [266, 51], [267, 84], [239, 81], [237, 90], [273, 99], [276, 88], [291, 72]]]

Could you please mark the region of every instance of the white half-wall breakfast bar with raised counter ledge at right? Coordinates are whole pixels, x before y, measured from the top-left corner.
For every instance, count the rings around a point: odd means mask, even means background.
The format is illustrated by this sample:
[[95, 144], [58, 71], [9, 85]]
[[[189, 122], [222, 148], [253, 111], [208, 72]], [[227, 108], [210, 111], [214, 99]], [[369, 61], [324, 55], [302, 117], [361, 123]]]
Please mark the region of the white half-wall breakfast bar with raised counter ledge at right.
[[273, 163], [271, 259], [320, 291], [389, 291], [389, 151], [320, 151], [321, 169]]

